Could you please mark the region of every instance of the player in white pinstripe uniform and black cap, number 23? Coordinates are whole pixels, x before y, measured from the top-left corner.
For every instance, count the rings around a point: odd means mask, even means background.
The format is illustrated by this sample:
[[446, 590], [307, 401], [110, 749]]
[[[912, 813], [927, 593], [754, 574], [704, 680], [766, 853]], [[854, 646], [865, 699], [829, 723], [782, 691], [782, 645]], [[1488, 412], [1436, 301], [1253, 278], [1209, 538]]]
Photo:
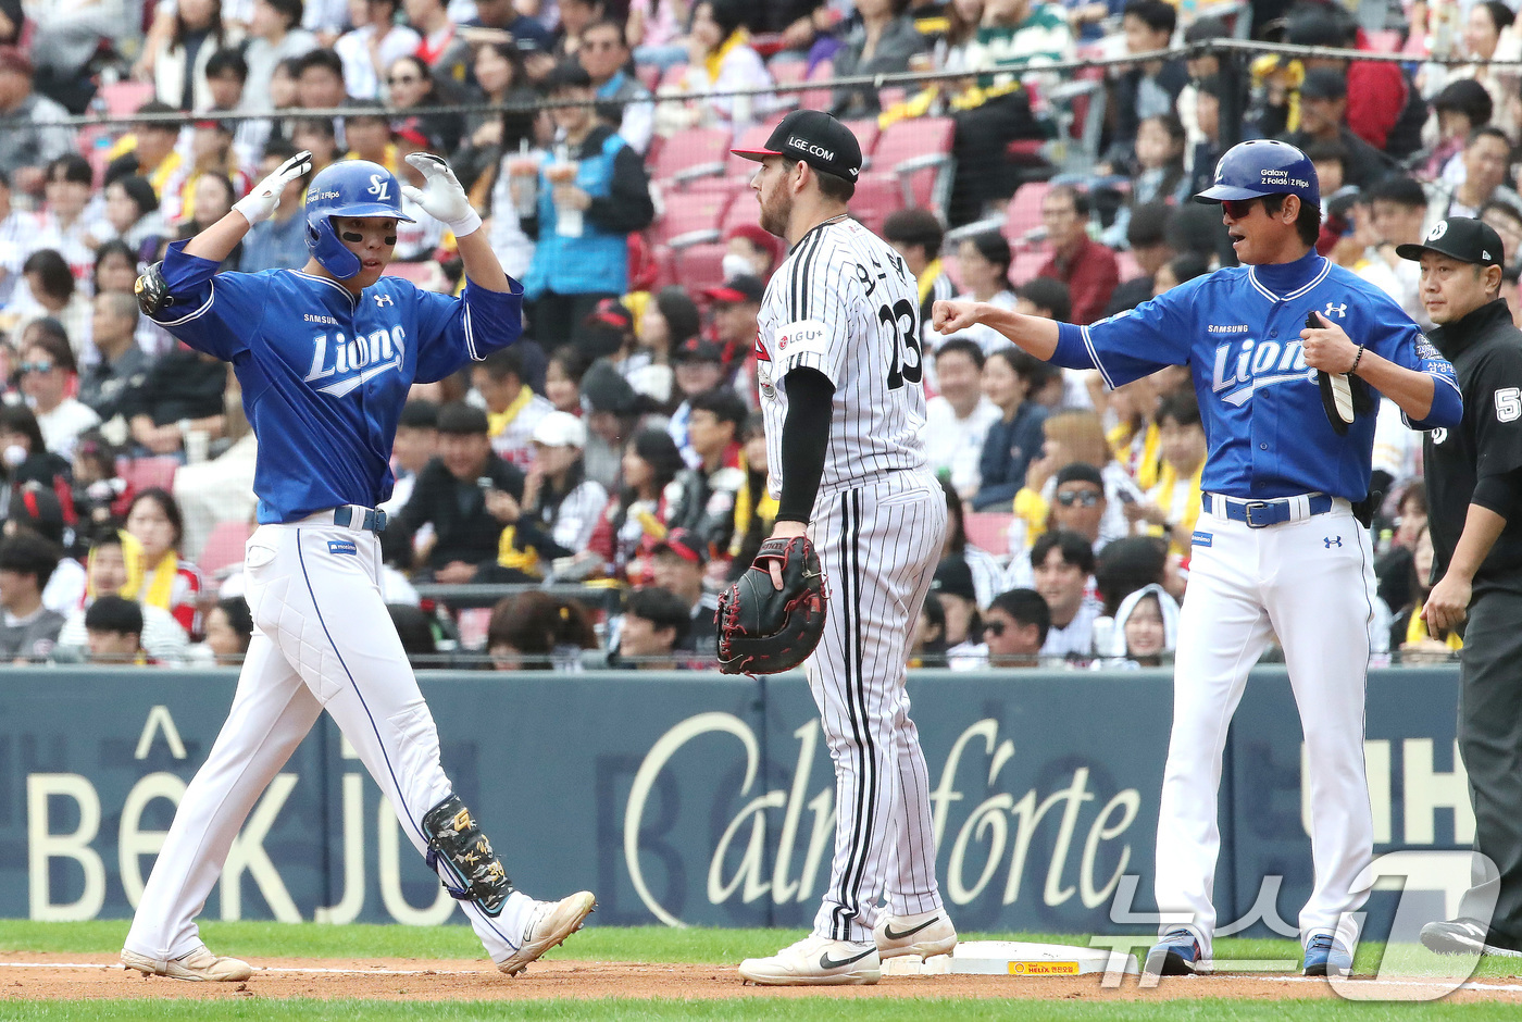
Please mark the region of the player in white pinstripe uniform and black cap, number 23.
[[[805, 663], [836, 766], [836, 854], [813, 932], [749, 958], [758, 984], [877, 982], [881, 958], [956, 946], [936, 888], [930, 783], [904, 693], [910, 624], [945, 536], [925, 460], [915, 276], [846, 215], [861, 148], [834, 117], [793, 111], [752, 180], [761, 227], [791, 254], [773, 274], [756, 338], [773, 538], [807, 535], [829, 592]], [[775, 573], [781, 588], [781, 577]], [[878, 900], [886, 897], [887, 906]]]

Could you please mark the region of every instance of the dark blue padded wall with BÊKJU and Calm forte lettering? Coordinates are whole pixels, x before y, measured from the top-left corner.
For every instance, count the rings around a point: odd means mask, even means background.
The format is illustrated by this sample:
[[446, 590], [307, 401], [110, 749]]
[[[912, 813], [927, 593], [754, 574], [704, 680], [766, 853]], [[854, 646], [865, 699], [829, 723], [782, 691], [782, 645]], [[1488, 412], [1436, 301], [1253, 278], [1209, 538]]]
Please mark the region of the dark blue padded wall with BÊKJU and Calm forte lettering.
[[[1464, 886], [1473, 835], [1454, 748], [1457, 681], [1452, 667], [1370, 678], [1376, 853], [1417, 853], [1387, 862], [1406, 867], [1408, 896], [1434, 918]], [[233, 672], [6, 669], [0, 915], [129, 915], [234, 684]], [[802, 675], [432, 673], [422, 684], [444, 768], [530, 894], [589, 886], [598, 921], [616, 925], [811, 920], [836, 792]], [[1166, 672], [919, 672], [910, 696], [959, 929], [1154, 929]], [[1294, 934], [1310, 889], [1301, 760], [1288, 679], [1260, 669], [1221, 790], [1224, 926]], [[1371, 934], [1394, 903], [1376, 889]], [[461, 921], [326, 717], [256, 806], [205, 915]]]

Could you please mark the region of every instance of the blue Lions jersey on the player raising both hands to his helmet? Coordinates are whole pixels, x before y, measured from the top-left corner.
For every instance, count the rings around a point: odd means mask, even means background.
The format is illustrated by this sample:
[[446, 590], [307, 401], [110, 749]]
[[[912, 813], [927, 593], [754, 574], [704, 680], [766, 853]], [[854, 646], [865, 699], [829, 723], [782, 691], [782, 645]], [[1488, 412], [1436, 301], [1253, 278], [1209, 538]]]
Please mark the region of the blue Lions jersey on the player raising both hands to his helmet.
[[467, 285], [452, 299], [380, 277], [361, 294], [297, 270], [216, 273], [175, 242], [163, 274], [174, 305], [154, 318], [233, 364], [259, 439], [260, 522], [391, 495], [391, 440], [414, 382], [449, 376], [517, 340], [522, 286]]

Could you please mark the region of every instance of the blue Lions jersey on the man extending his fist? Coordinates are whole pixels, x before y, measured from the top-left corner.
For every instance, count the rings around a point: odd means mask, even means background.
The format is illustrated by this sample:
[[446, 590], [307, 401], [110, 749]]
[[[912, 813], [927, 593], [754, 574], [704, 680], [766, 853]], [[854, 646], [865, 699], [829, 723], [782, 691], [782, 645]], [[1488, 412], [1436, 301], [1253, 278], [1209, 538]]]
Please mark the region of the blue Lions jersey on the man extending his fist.
[[1412, 428], [1460, 420], [1447, 359], [1383, 291], [1315, 251], [1291, 263], [1218, 270], [1093, 326], [1064, 323], [1052, 361], [1099, 369], [1111, 387], [1189, 366], [1208, 446], [1207, 492], [1359, 501], [1368, 493], [1374, 413], [1358, 416], [1347, 436], [1332, 428], [1301, 350], [1312, 311], [1355, 344], [1432, 376], [1432, 408]]

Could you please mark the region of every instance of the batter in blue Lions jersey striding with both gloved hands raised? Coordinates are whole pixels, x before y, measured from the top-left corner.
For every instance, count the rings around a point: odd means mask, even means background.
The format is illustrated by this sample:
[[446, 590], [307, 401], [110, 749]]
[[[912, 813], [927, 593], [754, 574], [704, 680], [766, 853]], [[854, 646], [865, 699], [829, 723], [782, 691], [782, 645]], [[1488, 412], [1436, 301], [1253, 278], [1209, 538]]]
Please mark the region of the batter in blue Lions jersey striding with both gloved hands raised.
[[438, 731], [380, 599], [380, 538], [391, 439], [414, 381], [449, 376], [511, 344], [522, 294], [502, 273], [454, 172], [414, 154], [423, 189], [408, 198], [460, 241], [469, 280], [451, 299], [382, 277], [396, 245], [402, 186], [345, 160], [306, 195], [312, 257], [301, 270], [218, 274], [253, 224], [301, 177], [301, 152], [233, 212], [137, 283], [170, 334], [233, 362], [259, 439], [259, 527], [245, 570], [254, 638], [237, 695], [186, 789], [143, 889], [122, 963], [180, 979], [247, 979], [250, 966], [201, 943], [195, 917], [234, 836], [318, 714], [327, 710], [390, 800], [402, 830], [460, 899], [498, 967], [516, 975], [580, 929], [587, 891], [536, 902], [501, 859], [438, 762]]

